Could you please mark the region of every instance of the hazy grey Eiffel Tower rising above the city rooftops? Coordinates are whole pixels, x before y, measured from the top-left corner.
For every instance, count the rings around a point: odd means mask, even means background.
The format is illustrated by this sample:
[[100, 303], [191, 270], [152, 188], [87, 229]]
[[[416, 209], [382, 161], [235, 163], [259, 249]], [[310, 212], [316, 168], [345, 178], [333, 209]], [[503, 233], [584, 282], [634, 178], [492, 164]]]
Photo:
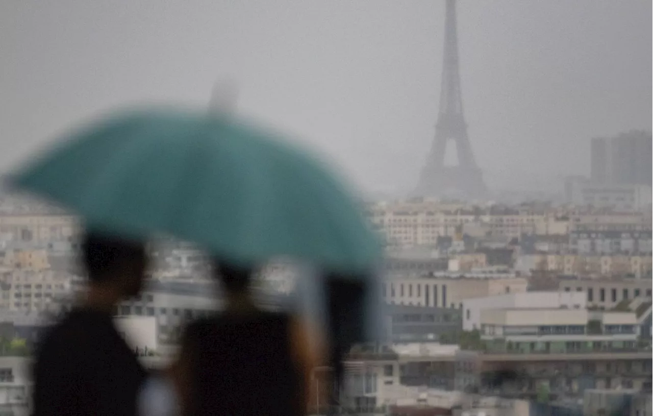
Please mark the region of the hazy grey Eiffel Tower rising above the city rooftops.
[[[457, 166], [445, 165], [445, 150], [449, 141], [456, 144]], [[467, 124], [462, 112], [462, 91], [458, 68], [458, 34], [456, 30], [456, 2], [447, 0], [445, 46], [440, 89], [440, 106], [436, 136], [426, 165], [422, 169], [413, 195], [443, 197], [464, 195], [482, 197], [487, 192], [481, 169], [471, 152]]]

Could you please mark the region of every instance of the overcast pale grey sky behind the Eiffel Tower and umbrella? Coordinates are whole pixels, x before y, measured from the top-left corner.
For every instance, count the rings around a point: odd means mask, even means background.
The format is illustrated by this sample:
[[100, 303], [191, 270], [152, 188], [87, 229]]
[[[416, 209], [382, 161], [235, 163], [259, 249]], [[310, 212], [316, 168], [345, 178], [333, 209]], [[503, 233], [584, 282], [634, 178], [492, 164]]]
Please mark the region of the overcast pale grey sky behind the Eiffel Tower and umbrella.
[[[361, 187], [417, 181], [438, 112], [444, 1], [0, 1], [0, 169], [133, 101], [239, 107]], [[463, 100], [490, 183], [587, 172], [588, 139], [653, 129], [653, 1], [463, 0]]]

